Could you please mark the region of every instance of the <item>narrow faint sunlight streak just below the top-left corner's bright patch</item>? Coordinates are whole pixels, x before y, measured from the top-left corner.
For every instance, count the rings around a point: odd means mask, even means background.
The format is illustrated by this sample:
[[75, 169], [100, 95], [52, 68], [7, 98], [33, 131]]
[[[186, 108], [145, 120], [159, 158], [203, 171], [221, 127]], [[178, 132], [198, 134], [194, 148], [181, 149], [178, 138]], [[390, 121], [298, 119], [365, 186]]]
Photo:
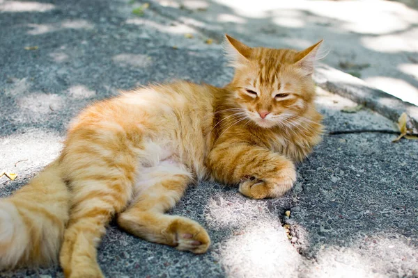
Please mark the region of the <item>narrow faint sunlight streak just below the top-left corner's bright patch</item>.
[[84, 19], [77, 20], [64, 20], [63, 22], [53, 23], [53, 24], [28, 24], [29, 28], [32, 28], [28, 31], [29, 35], [41, 35], [50, 32], [56, 32], [63, 29], [84, 29], [91, 30], [94, 28], [94, 25]]

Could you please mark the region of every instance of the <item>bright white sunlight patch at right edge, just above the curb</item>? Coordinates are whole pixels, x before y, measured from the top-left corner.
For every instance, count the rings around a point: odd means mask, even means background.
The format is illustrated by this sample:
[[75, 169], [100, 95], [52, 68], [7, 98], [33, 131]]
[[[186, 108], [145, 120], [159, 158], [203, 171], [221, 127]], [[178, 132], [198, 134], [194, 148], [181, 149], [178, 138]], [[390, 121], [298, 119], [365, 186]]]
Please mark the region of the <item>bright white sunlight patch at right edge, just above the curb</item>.
[[403, 101], [418, 105], [418, 88], [402, 79], [394, 79], [387, 76], [376, 76], [365, 79], [367, 83], [383, 90]]

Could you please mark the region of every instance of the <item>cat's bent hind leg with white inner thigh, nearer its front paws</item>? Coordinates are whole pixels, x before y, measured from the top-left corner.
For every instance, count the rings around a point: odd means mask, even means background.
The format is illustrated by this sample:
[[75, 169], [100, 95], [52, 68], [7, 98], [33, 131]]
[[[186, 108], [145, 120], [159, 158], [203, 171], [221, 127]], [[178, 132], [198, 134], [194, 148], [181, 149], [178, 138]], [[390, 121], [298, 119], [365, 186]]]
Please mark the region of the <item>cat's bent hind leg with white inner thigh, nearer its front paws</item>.
[[210, 238], [197, 222], [164, 214], [183, 196], [191, 175], [180, 163], [163, 161], [144, 170], [136, 185], [134, 202], [118, 215], [118, 224], [139, 238], [201, 254], [208, 250]]

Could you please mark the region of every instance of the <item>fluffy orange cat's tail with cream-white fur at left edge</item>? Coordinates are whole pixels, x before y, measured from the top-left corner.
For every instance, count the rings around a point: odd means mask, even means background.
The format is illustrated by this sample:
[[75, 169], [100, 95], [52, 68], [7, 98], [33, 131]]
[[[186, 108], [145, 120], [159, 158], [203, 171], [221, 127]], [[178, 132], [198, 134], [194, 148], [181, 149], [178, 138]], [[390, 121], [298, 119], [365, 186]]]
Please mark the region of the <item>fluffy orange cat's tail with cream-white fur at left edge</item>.
[[58, 161], [0, 199], [0, 270], [58, 261], [69, 201]]

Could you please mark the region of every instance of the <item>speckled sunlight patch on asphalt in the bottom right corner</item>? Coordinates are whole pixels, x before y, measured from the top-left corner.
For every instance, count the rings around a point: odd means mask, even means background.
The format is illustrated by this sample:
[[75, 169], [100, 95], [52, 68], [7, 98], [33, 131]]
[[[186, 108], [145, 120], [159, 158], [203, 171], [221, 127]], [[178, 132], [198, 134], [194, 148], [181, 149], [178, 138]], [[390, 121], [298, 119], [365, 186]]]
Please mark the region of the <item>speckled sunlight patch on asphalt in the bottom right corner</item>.
[[[311, 269], [310, 277], [387, 277], [388, 273], [393, 277], [401, 273], [407, 273], [405, 277], [415, 277], [418, 274], [418, 250], [404, 237], [366, 236], [354, 245], [321, 249], [316, 256], [318, 265]], [[398, 265], [397, 269], [394, 265]]]

